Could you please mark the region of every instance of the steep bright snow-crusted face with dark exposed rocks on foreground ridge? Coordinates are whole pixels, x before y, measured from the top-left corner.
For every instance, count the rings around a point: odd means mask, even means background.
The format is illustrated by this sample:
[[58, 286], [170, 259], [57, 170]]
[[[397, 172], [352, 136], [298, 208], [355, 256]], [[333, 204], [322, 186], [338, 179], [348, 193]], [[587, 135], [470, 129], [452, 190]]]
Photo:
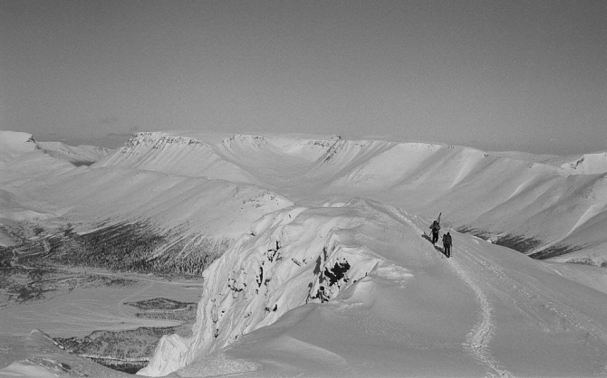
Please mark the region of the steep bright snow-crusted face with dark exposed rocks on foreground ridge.
[[360, 210], [294, 206], [267, 214], [203, 273], [193, 336], [163, 338], [141, 373], [173, 372], [295, 307], [332, 300], [369, 275], [382, 260], [354, 241], [365, 222]]

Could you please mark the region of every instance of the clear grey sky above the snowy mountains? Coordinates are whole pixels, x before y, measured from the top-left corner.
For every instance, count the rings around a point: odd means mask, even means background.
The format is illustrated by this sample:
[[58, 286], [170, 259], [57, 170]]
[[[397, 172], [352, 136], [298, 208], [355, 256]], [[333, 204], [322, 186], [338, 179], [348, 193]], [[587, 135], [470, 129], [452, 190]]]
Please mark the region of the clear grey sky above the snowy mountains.
[[0, 0], [0, 129], [607, 150], [607, 1]]

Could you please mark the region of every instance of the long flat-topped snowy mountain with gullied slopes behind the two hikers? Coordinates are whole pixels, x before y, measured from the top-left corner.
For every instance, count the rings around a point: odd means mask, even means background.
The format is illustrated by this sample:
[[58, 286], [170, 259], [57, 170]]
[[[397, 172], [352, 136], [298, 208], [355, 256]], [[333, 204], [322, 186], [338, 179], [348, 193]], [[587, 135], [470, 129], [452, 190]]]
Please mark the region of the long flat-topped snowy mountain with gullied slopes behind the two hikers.
[[[140, 133], [96, 166], [255, 184], [294, 202], [372, 198], [540, 257], [601, 264], [607, 156], [571, 169], [566, 157], [330, 136]], [[601, 160], [602, 159], [602, 160]], [[604, 162], [602, 162], [604, 161]], [[578, 165], [582, 166], [582, 164]], [[585, 166], [585, 165], [584, 165]], [[592, 172], [585, 175], [583, 172]], [[313, 194], [313, 195], [308, 195]], [[555, 214], [559, 214], [555, 216]], [[586, 224], [593, 232], [586, 231]]]

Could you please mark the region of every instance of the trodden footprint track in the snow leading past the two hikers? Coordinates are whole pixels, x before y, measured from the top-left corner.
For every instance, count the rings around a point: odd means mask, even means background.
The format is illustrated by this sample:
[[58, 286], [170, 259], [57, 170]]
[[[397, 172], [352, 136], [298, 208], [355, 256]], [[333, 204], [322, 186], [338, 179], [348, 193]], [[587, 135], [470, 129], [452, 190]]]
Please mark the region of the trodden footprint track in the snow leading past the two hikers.
[[[419, 227], [412, 222], [409, 218], [400, 214], [400, 211], [393, 207], [389, 207], [390, 213], [396, 215], [401, 221], [406, 222], [419, 234], [426, 234]], [[468, 250], [460, 249], [459, 253], [465, 253], [468, 258], [474, 258], [474, 255]], [[467, 269], [463, 267], [457, 260], [447, 259], [451, 269], [455, 270], [458, 277], [466, 282], [467, 286], [472, 288], [477, 297], [478, 305], [480, 306], [480, 314], [478, 316], [477, 324], [470, 330], [466, 336], [466, 342], [463, 343], [464, 349], [468, 354], [474, 356], [479, 362], [485, 364], [489, 369], [496, 372], [496, 374], [489, 373], [489, 376], [500, 376], [500, 377], [512, 377], [512, 373], [503, 369], [497, 364], [496, 360], [491, 355], [489, 349], [489, 343], [494, 335], [494, 322], [493, 322], [493, 307], [489, 299], [483, 292], [483, 290], [475, 283], [475, 281], [468, 274]]]

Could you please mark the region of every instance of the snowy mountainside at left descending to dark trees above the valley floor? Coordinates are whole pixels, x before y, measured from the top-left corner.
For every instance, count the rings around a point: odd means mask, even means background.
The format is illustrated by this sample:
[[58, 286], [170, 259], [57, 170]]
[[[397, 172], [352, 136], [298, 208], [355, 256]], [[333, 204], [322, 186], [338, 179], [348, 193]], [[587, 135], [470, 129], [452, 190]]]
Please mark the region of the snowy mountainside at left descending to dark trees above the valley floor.
[[[146, 253], [122, 261], [123, 267], [197, 272], [248, 232], [251, 222], [293, 204], [250, 184], [135, 168], [77, 166], [67, 156], [48, 154], [31, 135], [6, 135], [10, 149], [0, 151], [7, 161], [0, 174], [1, 245], [16, 242], [5, 232], [5, 227], [22, 227], [15, 222], [42, 226], [49, 234], [69, 227], [84, 239], [76, 244], [102, 241], [111, 244], [107, 248], [122, 249], [128, 243], [116, 245], [114, 240], [154, 240], [145, 246]], [[111, 238], [103, 237], [111, 232]], [[74, 253], [80, 256], [82, 248], [68, 239], [53, 238], [53, 245], [59, 243], [54, 250], [68, 259]]]

